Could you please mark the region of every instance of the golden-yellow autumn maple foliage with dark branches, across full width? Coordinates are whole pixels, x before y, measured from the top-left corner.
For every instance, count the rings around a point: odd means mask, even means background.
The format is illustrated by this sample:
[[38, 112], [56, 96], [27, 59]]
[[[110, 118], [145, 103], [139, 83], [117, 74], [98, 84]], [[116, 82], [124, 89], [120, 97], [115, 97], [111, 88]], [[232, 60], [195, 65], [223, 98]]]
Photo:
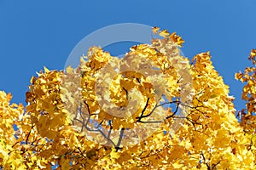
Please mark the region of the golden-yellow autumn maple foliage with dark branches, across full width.
[[[124, 59], [92, 47], [77, 68], [38, 72], [26, 103], [0, 92], [4, 169], [253, 169], [256, 49], [239, 111], [209, 52], [189, 62], [183, 39], [153, 28]], [[53, 167], [54, 166], [54, 167]]]

